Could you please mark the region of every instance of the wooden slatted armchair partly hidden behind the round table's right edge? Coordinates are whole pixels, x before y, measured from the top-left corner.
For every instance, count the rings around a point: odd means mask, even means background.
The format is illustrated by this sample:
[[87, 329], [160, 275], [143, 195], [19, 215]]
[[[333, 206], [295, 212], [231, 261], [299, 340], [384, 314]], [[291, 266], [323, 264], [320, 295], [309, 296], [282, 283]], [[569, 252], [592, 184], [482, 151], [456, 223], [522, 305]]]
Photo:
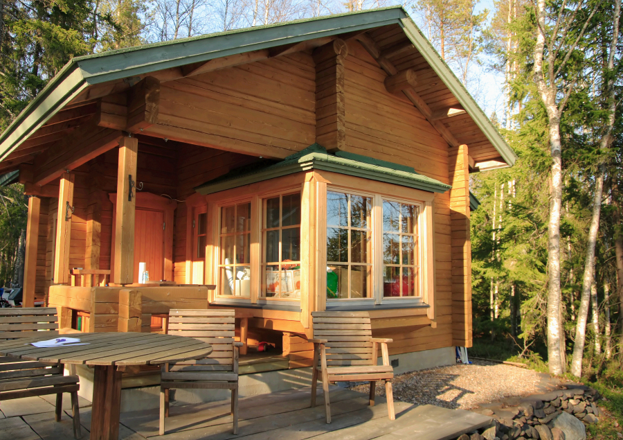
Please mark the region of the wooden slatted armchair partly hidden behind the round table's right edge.
[[160, 382], [160, 435], [169, 416], [169, 389], [231, 389], [233, 433], [238, 433], [238, 349], [232, 309], [170, 310], [169, 334], [212, 344], [208, 358], [164, 364]]

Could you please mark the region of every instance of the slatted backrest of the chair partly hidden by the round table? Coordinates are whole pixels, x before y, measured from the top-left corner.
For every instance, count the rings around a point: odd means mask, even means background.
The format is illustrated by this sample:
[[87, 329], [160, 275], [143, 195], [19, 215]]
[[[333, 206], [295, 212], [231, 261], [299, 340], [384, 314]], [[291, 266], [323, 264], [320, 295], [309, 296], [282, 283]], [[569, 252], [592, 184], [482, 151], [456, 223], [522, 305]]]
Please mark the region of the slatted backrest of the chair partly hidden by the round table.
[[231, 309], [170, 310], [170, 335], [194, 337], [213, 349], [207, 358], [177, 362], [171, 371], [233, 370], [234, 315]]

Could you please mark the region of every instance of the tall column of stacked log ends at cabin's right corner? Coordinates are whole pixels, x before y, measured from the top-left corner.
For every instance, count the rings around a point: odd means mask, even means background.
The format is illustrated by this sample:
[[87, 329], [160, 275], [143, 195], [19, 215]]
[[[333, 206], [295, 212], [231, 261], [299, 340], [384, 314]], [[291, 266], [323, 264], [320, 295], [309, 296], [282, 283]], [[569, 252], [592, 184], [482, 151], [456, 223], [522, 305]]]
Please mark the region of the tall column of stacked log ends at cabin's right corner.
[[469, 157], [466, 145], [449, 149], [452, 238], [452, 340], [471, 346], [471, 240], [469, 238]]

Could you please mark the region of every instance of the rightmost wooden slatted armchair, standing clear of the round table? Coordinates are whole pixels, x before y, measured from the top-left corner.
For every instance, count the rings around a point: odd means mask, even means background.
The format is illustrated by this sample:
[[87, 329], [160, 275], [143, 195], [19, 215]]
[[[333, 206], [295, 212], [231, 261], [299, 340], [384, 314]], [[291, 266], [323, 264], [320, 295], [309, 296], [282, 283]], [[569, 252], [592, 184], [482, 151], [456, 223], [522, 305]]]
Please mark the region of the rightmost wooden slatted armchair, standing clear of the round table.
[[[385, 381], [387, 409], [395, 420], [392, 378], [394, 370], [387, 351], [390, 339], [372, 337], [370, 315], [367, 312], [313, 312], [314, 371], [311, 375], [311, 406], [316, 406], [318, 373], [323, 376], [325, 412], [331, 423], [329, 382], [370, 381], [370, 406], [374, 406], [377, 380]], [[377, 365], [378, 344], [381, 344], [383, 365]]]

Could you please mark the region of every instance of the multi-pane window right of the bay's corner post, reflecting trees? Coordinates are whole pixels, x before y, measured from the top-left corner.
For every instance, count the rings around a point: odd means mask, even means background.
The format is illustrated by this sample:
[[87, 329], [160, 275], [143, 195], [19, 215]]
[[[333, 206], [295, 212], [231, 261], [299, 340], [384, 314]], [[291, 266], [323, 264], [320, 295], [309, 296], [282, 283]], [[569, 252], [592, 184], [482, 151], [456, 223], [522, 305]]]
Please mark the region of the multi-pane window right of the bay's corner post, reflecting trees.
[[327, 299], [372, 297], [372, 197], [327, 191]]

